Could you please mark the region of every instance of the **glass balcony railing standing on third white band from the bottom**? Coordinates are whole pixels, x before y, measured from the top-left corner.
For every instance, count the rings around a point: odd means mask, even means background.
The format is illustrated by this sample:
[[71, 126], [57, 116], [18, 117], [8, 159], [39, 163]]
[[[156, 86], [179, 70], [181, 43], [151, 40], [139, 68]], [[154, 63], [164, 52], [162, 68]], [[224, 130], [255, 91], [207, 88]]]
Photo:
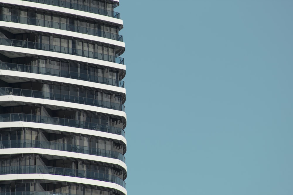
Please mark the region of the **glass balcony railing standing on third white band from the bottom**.
[[86, 122], [86, 121], [73, 120], [73, 119], [67, 119], [67, 118], [57, 118], [57, 117], [23, 114], [23, 113], [0, 114], [0, 122], [12, 122], [12, 121], [38, 122], [38, 123], [51, 124], [51, 125], [77, 127], [82, 129], [89, 129], [89, 130], [122, 135], [125, 137], [125, 131], [122, 128], [113, 127], [110, 125], [102, 125], [102, 124], [94, 123], [94, 122]]

